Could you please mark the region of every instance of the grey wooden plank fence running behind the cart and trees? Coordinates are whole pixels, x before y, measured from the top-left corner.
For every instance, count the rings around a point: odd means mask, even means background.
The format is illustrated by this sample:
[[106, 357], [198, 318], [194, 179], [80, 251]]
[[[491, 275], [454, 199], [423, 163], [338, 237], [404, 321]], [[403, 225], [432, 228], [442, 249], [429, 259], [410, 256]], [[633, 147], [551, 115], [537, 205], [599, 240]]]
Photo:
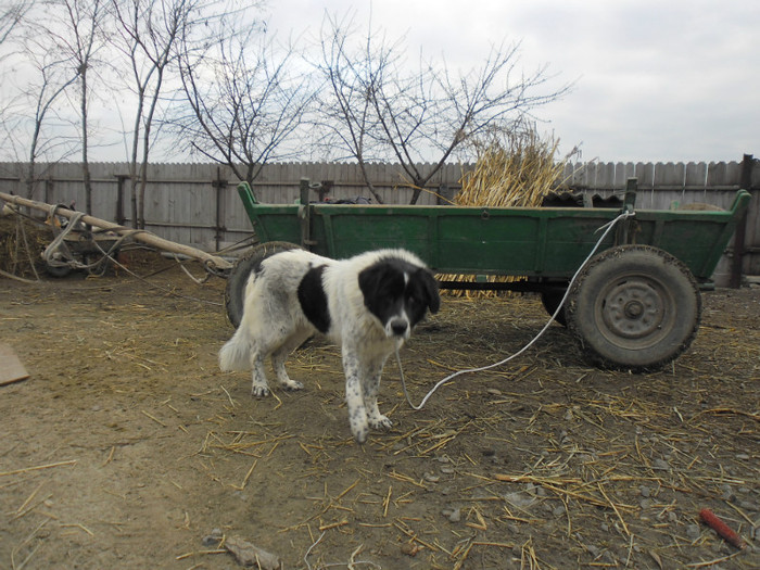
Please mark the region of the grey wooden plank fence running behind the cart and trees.
[[[83, 210], [85, 192], [81, 165], [37, 165], [38, 180], [31, 195], [24, 182], [23, 163], [0, 163], [0, 190], [48, 203]], [[420, 165], [432, 168], [431, 165]], [[459, 180], [472, 165], [449, 164], [430, 181], [418, 201], [442, 203], [459, 189]], [[405, 186], [397, 165], [369, 165], [370, 177], [385, 203], [408, 203], [413, 190]], [[131, 225], [131, 188], [126, 163], [90, 165], [93, 185], [92, 215]], [[563, 185], [573, 190], [599, 193], [622, 191], [628, 178], [638, 179], [636, 206], [668, 208], [673, 201], [702, 202], [727, 207], [740, 187], [753, 200], [744, 227], [743, 273], [760, 275], [760, 161], [719, 163], [571, 163], [563, 170]], [[266, 165], [254, 183], [259, 201], [292, 203], [299, 197], [301, 178], [329, 181], [331, 198], [371, 198], [355, 164], [287, 163]], [[251, 225], [237, 195], [237, 179], [217, 164], [153, 164], [148, 169], [145, 227], [162, 238], [215, 251], [251, 233]], [[314, 192], [314, 200], [318, 194]], [[445, 202], [445, 200], [443, 200]], [[738, 232], [737, 232], [738, 233]], [[723, 259], [715, 281], [723, 284], [731, 263]]]

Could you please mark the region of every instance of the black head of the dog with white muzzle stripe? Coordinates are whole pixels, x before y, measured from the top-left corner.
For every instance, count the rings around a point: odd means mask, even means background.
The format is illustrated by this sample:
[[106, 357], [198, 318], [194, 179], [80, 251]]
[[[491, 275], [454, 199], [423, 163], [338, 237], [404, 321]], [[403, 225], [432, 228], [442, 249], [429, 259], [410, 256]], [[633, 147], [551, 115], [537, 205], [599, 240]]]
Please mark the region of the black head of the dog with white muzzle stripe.
[[389, 338], [408, 339], [428, 309], [438, 313], [438, 281], [426, 268], [397, 257], [381, 258], [359, 273], [364, 304]]

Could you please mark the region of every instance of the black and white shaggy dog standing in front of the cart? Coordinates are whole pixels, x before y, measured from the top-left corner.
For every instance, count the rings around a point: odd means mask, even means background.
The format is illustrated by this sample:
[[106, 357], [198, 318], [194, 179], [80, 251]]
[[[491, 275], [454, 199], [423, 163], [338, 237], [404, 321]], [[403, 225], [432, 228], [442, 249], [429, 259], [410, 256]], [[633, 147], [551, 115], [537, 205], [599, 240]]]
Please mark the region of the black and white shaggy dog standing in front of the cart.
[[390, 428], [378, 409], [380, 375], [396, 345], [428, 309], [441, 305], [438, 282], [414, 254], [380, 250], [334, 261], [304, 250], [265, 258], [245, 287], [243, 317], [219, 352], [223, 370], [253, 369], [253, 394], [269, 394], [264, 359], [279, 383], [300, 390], [284, 362], [316, 332], [342, 347], [351, 432], [367, 440], [369, 427]]

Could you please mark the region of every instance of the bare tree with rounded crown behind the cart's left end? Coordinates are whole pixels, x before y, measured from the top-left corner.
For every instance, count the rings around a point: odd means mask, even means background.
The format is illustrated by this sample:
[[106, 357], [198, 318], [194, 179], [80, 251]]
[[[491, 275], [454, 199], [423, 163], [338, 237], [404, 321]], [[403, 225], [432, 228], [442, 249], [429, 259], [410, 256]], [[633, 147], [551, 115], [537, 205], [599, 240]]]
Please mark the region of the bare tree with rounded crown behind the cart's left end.
[[292, 47], [278, 48], [255, 28], [220, 27], [203, 50], [186, 42], [180, 78], [188, 112], [175, 121], [179, 140], [252, 182], [266, 163], [290, 155], [284, 143], [314, 97], [294, 61]]

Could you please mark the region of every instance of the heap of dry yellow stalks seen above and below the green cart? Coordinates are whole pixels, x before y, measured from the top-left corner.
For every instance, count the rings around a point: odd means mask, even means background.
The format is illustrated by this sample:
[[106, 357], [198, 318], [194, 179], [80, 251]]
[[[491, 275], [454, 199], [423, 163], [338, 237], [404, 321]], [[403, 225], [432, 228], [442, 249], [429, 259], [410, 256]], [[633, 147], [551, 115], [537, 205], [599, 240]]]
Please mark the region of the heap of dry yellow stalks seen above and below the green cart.
[[[476, 144], [478, 160], [460, 179], [454, 197], [458, 206], [539, 207], [545, 195], [565, 183], [567, 159], [556, 159], [559, 140], [542, 139], [533, 129], [510, 134], [504, 141], [492, 139]], [[474, 276], [443, 275], [441, 280], [473, 281]], [[511, 281], [514, 277], [489, 277], [489, 281]], [[455, 295], [463, 291], [453, 291]], [[495, 291], [467, 291], [470, 295], [496, 295]]]

